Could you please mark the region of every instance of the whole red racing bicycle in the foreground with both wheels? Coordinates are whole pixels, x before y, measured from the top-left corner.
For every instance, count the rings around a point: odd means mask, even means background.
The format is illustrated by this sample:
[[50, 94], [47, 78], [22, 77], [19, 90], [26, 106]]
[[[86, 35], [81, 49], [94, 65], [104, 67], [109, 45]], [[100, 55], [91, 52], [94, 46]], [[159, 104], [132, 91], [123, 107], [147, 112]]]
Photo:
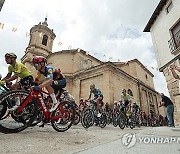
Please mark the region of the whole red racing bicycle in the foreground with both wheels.
[[[52, 127], [58, 132], [68, 130], [74, 121], [75, 109], [71, 101], [67, 98], [64, 90], [61, 90], [57, 96], [60, 102], [59, 106], [52, 113], [49, 112], [42, 95], [48, 95], [43, 90], [39, 91], [10, 91], [1, 97], [0, 104], [6, 102], [8, 105], [15, 102], [15, 98], [19, 97], [21, 104], [15, 111], [10, 112], [9, 116], [0, 120], [0, 132], [2, 133], [17, 133], [28, 128], [37, 118], [38, 103], [44, 116], [44, 122], [51, 122]], [[16, 120], [14, 120], [15, 116]]]

